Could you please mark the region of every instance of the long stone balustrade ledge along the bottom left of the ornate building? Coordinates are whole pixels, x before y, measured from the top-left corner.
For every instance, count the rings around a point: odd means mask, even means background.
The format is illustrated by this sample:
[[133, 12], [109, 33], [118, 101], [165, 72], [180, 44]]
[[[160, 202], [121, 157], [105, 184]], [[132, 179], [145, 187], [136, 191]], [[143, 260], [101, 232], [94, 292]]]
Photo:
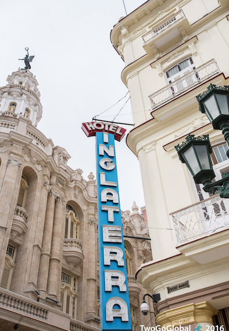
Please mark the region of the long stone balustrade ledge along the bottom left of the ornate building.
[[99, 331], [58, 309], [0, 288], [0, 330], [12, 331], [15, 324], [18, 330]]

